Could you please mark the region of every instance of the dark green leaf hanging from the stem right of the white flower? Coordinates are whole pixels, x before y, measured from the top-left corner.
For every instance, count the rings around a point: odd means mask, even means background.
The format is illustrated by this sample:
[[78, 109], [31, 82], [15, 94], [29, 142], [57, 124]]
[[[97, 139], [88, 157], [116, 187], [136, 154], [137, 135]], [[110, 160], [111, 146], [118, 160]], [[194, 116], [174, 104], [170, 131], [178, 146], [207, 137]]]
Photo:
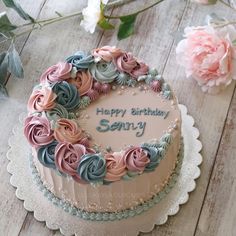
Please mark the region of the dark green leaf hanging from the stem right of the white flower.
[[120, 17], [120, 26], [118, 30], [118, 39], [128, 38], [134, 33], [134, 24], [137, 14]]

